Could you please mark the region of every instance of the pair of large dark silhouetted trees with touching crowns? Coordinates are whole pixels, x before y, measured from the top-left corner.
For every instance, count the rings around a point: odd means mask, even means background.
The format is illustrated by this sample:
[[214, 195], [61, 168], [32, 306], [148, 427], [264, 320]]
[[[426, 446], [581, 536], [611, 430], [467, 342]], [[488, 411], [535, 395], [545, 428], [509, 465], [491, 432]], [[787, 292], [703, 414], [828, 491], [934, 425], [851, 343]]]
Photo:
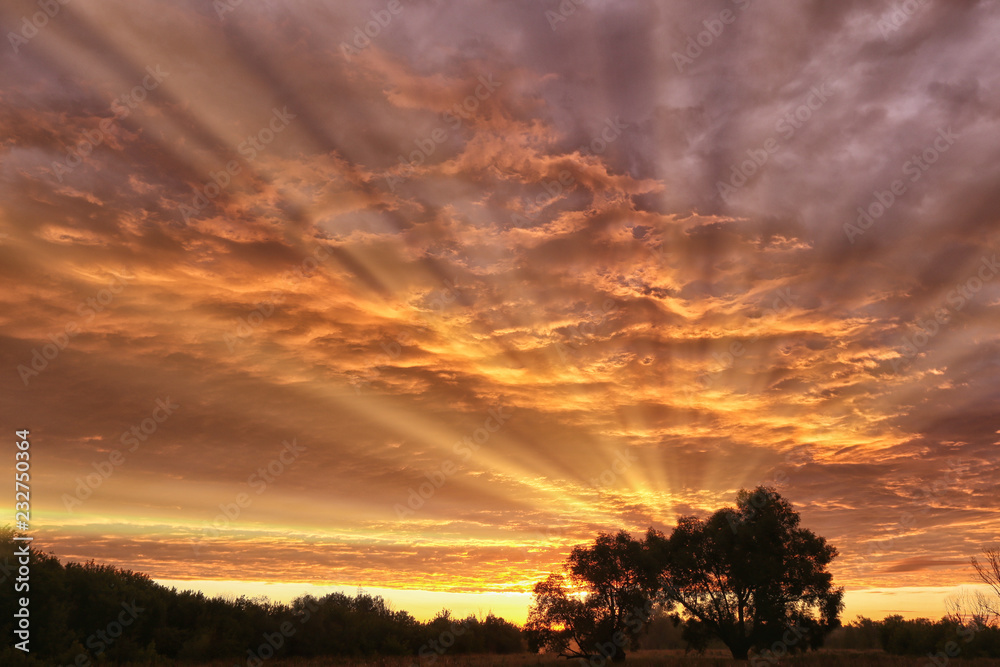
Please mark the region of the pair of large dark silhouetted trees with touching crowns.
[[839, 625], [843, 589], [827, 570], [837, 550], [799, 523], [787, 500], [758, 487], [706, 519], [681, 517], [669, 537], [602, 533], [535, 586], [529, 648], [623, 660], [656, 605], [675, 610], [696, 649], [713, 637], [743, 660], [775, 644], [816, 648]]

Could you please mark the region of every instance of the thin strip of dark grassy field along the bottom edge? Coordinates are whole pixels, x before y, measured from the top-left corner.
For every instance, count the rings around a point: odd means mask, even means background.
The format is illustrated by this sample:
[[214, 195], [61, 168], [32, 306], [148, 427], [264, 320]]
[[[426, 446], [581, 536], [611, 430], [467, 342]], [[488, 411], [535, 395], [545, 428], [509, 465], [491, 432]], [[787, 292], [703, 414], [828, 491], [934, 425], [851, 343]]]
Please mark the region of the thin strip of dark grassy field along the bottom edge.
[[[232, 667], [232, 662], [214, 662], [203, 667]], [[245, 665], [245, 662], [238, 663]], [[533, 665], [567, 665], [567, 667], [583, 667], [587, 664], [581, 660], [566, 660], [554, 656], [539, 656], [522, 654], [516, 656], [482, 655], [482, 656], [441, 656], [436, 660], [414, 658], [315, 658], [269, 660], [267, 667], [531, 667]], [[598, 663], [595, 663], [598, 664]], [[610, 663], [609, 663], [610, 664]], [[731, 665], [802, 665], [803, 667], [868, 667], [888, 665], [890, 667], [987, 667], [1000, 666], [1000, 659], [979, 658], [962, 660], [960, 658], [940, 657], [932, 661], [928, 656], [902, 657], [893, 656], [881, 651], [818, 651], [806, 655], [783, 658], [776, 662], [756, 660], [739, 662], [729, 658], [723, 651], [709, 651], [705, 655], [684, 655], [683, 651], [636, 651], [629, 655], [624, 663], [634, 667], [730, 667]]]

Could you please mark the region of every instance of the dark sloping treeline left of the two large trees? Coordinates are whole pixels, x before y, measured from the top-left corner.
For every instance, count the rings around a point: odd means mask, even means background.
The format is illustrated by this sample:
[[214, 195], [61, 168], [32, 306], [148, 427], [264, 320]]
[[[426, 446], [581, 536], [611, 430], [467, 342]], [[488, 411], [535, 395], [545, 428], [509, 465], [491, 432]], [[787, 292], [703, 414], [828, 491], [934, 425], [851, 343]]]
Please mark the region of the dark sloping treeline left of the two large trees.
[[[108, 565], [62, 564], [31, 551], [29, 590], [15, 591], [18, 562], [12, 533], [0, 533], [0, 665], [89, 665], [163, 659], [227, 659], [256, 667], [273, 656], [514, 653], [521, 629], [492, 614], [419, 622], [379, 596], [333, 593], [291, 604], [265, 598], [208, 598], [177, 591], [148, 575]], [[15, 648], [28, 597], [30, 654]]]

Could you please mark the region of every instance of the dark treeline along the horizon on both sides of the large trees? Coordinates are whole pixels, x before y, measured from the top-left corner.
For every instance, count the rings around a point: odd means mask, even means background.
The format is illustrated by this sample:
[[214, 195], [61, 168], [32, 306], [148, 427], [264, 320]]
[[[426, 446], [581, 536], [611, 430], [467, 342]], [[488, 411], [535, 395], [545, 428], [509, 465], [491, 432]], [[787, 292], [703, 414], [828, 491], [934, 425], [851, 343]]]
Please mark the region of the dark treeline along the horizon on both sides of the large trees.
[[[260, 667], [274, 656], [376, 655], [419, 656], [428, 663], [428, 658], [445, 654], [522, 652], [531, 639], [530, 632], [492, 614], [454, 618], [442, 611], [433, 620], [420, 622], [405, 611], [393, 610], [381, 597], [363, 592], [304, 596], [287, 605], [265, 598], [208, 598], [164, 587], [130, 570], [94, 562], [64, 565], [36, 550], [30, 554], [30, 588], [19, 592], [12, 538], [10, 530], [0, 530], [0, 633], [6, 638], [0, 645], [0, 665], [5, 666], [224, 659]], [[24, 596], [30, 598], [29, 655], [14, 647], [17, 598]], [[632, 648], [698, 650], [724, 645], [719, 639], [693, 641], [697, 630], [691, 619], [682, 620], [657, 607], [641, 624]], [[802, 643], [784, 638], [766, 644], [751, 657], [751, 664], [774, 663], [786, 652], [803, 648]], [[833, 629], [824, 645], [930, 655], [944, 664], [945, 658], [1000, 657], [1000, 627], [968, 619], [859, 618]], [[617, 655], [608, 657], [614, 660]]]

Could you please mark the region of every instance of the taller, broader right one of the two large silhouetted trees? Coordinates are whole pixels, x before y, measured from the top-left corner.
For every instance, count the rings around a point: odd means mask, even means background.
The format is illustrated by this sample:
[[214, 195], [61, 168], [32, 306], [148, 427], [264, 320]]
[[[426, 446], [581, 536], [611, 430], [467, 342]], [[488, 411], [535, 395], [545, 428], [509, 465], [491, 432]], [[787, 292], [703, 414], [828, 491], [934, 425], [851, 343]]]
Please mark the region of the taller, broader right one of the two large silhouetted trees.
[[827, 571], [837, 550], [800, 528], [774, 489], [742, 490], [735, 508], [681, 517], [669, 539], [651, 532], [647, 541], [659, 551], [663, 599], [680, 608], [695, 647], [718, 637], [745, 660], [775, 644], [818, 647], [839, 625], [843, 589]]

